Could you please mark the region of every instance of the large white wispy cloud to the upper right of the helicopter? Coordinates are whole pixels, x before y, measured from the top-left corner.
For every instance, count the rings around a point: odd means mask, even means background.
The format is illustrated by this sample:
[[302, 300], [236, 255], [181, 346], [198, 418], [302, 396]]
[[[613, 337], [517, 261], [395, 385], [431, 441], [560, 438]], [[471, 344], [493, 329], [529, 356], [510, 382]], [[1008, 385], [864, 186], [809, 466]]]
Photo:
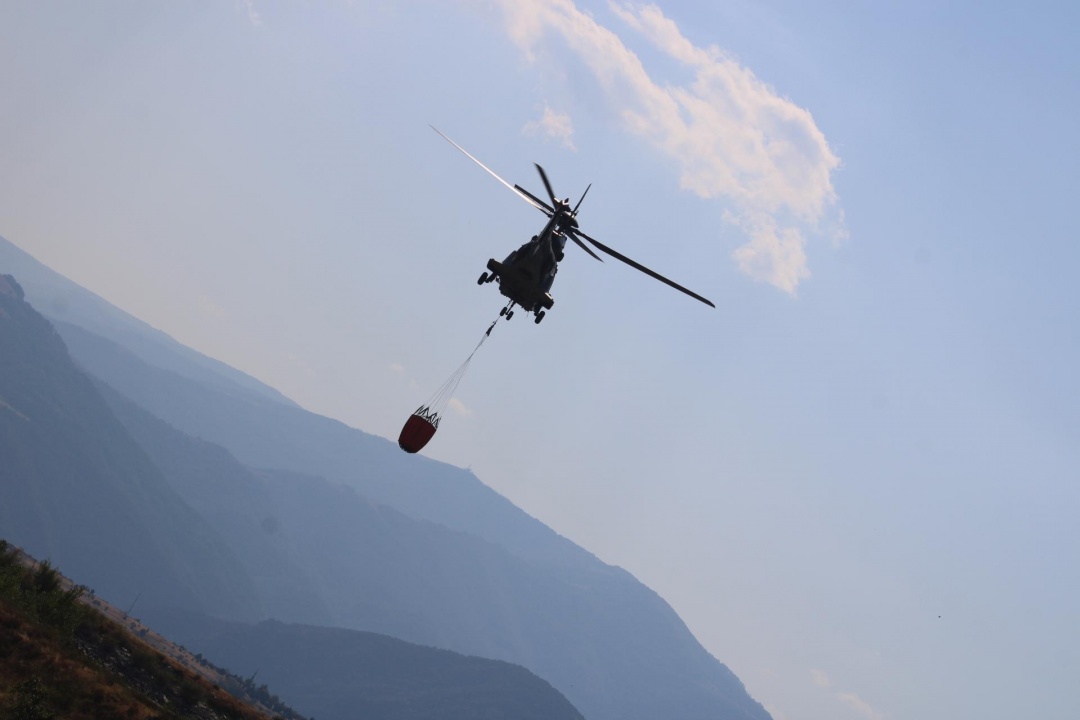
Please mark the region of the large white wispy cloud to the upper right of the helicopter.
[[[698, 47], [657, 5], [610, 3], [629, 28], [693, 72], [660, 84], [616, 32], [572, 0], [498, 0], [511, 39], [529, 60], [557, 36], [590, 69], [619, 121], [679, 167], [684, 189], [730, 204], [748, 235], [739, 269], [795, 294], [810, 276], [806, 242], [837, 203], [840, 160], [810, 113], [779, 96], [716, 46]], [[829, 234], [845, 236], [837, 215]]]

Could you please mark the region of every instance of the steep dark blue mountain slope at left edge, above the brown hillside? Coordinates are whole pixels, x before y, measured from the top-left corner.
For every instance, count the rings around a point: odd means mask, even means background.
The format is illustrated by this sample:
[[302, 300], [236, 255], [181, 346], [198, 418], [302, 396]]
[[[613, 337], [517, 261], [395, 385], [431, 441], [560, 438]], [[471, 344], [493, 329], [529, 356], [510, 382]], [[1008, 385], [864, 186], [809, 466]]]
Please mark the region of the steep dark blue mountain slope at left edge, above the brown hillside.
[[120, 602], [258, 617], [254, 585], [0, 276], [0, 534]]

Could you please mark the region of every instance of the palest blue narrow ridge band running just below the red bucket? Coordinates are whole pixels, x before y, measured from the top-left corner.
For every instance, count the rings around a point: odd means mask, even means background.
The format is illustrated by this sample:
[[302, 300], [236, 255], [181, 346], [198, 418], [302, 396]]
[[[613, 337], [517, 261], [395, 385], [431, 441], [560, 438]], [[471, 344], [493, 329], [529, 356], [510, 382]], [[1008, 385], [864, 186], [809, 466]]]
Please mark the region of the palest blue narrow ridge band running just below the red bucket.
[[178, 430], [227, 448], [245, 465], [346, 483], [411, 517], [490, 540], [527, 559], [596, 562], [468, 471], [406, 456], [395, 443], [301, 408], [220, 393], [83, 327], [55, 326], [93, 376]]

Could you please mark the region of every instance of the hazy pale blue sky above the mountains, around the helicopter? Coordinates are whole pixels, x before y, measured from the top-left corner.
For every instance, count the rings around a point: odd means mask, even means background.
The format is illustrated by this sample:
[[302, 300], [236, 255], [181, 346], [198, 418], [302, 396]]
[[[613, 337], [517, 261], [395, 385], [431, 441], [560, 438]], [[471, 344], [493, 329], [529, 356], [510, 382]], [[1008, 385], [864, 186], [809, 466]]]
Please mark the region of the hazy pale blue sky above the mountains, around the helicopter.
[[[1080, 709], [1080, 5], [0, 2], [0, 235], [659, 592], [777, 720]], [[0, 269], [2, 271], [2, 269]]]

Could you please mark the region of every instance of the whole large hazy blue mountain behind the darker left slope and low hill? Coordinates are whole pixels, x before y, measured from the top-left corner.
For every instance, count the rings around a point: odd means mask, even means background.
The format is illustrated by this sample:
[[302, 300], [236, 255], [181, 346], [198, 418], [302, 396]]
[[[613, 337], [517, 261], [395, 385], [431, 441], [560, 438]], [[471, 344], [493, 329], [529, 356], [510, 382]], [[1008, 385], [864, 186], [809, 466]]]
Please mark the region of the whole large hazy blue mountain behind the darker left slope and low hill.
[[[5, 261], [32, 263], [0, 242]], [[28, 284], [45, 308], [66, 283], [49, 277]], [[518, 663], [590, 720], [769, 717], [656, 593], [471, 473], [231, 377], [207, 381], [188, 355], [140, 354], [134, 318], [106, 337], [94, 329], [105, 321], [59, 307], [72, 356], [279, 620]]]

